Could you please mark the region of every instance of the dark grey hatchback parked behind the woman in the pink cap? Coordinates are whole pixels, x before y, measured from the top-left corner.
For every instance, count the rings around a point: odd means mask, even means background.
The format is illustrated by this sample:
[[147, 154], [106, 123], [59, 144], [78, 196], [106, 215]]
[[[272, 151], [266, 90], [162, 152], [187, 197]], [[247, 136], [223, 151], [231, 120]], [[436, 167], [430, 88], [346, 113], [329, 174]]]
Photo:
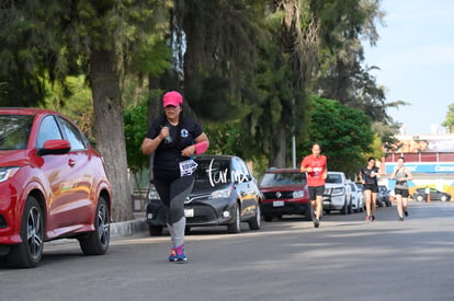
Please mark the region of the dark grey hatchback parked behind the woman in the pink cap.
[[[229, 233], [239, 233], [240, 222], [259, 230], [262, 195], [245, 161], [208, 154], [194, 160], [198, 164], [194, 187], [184, 204], [186, 231], [191, 227], [227, 225]], [[150, 235], [161, 235], [167, 221], [159, 195], [152, 194], [146, 210]]]

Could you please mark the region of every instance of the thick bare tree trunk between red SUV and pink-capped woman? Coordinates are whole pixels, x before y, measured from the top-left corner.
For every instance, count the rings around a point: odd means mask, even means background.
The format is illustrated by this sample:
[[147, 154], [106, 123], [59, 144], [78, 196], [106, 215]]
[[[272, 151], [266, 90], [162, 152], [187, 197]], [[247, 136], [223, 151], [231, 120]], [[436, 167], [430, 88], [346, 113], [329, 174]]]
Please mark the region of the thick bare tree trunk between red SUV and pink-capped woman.
[[114, 221], [130, 220], [134, 218], [133, 202], [115, 54], [113, 50], [93, 49], [90, 61], [97, 149], [104, 158], [111, 182], [112, 218]]

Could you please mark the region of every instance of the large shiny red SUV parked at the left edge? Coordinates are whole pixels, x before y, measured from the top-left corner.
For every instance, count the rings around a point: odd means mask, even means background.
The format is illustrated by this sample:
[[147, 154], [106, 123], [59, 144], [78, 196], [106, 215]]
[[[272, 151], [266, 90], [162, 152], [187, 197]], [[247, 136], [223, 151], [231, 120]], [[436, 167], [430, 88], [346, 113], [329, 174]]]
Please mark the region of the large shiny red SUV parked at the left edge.
[[77, 239], [84, 254], [110, 243], [111, 189], [104, 162], [67, 117], [0, 108], [0, 256], [35, 267], [43, 242]]

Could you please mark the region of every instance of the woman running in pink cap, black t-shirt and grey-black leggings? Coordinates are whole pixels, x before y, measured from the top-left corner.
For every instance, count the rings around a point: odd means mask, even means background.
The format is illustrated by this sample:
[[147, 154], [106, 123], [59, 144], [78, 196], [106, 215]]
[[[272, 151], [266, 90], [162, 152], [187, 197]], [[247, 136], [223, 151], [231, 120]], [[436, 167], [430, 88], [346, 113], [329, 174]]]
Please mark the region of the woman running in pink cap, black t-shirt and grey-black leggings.
[[185, 262], [184, 200], [194, 185], [197, 166], [194, 154], [204, 153], [208, 138], [202, 127], [182, 115], [183, 97], [179, 92], [167, 92], [162, 97], [163, 116], [156, 119], [141, 143], [144, 154], [154, 154], [154, 183], [161, 198], [172, 248], [170, 262]]

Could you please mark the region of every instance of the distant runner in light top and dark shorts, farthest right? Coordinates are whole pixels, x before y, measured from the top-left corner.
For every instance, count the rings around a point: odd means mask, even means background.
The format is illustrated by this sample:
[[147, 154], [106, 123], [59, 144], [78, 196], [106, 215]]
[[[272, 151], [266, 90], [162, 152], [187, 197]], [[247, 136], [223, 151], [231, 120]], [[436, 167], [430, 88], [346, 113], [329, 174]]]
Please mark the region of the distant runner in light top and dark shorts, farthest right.
[[400, 157], [397, 160], [397, 166], [394, 169], [389, 178], [395, 178], [396, 184], [394, 193], [397, 201], [397, 213], [399, 215], [399, 221], [404, 221], [404, 216], [408, 217], [408, 181], [413, 180], [413, 176], [409, 169], [404, 166], [405, 159]]

